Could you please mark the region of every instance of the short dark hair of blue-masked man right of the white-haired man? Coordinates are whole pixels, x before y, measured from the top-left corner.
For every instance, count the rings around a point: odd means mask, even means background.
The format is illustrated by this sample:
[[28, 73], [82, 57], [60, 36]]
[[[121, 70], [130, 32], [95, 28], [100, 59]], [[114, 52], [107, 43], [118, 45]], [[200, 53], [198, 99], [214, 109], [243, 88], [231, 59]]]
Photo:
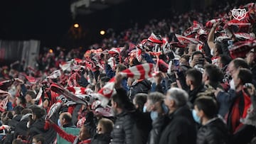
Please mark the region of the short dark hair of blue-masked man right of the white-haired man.
[[208, 118], [214, 118], [218, 114], [218, 104], [211, 96], [200, 96], [196, 99], [195, 106], [202, 110]]

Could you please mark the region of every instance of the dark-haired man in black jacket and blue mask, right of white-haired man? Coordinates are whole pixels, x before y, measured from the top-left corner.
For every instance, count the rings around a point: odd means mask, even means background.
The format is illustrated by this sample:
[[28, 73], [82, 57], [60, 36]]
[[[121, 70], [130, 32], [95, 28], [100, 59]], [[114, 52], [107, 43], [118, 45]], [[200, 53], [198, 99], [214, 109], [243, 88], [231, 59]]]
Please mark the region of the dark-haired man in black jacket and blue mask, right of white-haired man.
[[228, 127], [218, 118], [217, 101], [210, 96], [201, 96], [195, 101], [196, 116], [202, 124], [197, 133], [197, 144], [228, 144]]

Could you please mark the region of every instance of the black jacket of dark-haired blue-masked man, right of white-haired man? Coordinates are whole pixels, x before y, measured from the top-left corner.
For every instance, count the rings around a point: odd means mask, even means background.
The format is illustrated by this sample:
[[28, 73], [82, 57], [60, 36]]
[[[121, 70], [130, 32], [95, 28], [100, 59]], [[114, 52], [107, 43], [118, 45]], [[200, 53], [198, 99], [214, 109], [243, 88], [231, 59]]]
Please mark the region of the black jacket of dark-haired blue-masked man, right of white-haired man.
[[196, 144], [228, 144], [228, 127], [220, 118], [213, 118], [198, 130]]

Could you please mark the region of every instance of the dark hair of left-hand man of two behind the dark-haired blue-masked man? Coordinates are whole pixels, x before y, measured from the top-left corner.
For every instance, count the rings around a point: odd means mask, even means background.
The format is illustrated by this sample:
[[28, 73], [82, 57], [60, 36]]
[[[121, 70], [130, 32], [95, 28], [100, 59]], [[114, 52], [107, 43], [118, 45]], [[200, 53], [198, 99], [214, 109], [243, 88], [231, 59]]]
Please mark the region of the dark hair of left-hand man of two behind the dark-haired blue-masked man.
[[191, 77], [193, 84], [199, 86], [202, 84], [203, 74], [196, 68], [191, 68], [186, 71], [186, 76]]

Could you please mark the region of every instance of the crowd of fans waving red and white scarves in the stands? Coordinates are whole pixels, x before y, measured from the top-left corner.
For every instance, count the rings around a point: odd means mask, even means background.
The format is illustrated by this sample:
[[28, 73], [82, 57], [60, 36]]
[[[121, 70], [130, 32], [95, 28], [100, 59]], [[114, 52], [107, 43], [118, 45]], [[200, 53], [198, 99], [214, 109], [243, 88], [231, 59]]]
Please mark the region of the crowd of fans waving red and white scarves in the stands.
[[1, 143], [255, 143], [256, 4], [209, 11], [1, 67]]

